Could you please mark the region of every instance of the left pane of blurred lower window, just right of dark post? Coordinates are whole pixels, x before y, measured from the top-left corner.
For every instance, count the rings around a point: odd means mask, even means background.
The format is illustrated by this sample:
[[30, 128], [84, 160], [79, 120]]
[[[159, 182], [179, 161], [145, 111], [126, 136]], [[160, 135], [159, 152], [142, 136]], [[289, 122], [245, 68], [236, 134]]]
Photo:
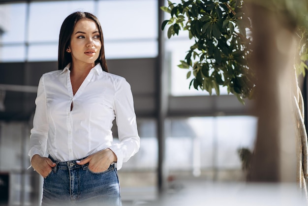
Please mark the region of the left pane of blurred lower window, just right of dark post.
[[170, 170], [196, 172], [213, 166], [213, 118], [166, 121], [166, 163]]

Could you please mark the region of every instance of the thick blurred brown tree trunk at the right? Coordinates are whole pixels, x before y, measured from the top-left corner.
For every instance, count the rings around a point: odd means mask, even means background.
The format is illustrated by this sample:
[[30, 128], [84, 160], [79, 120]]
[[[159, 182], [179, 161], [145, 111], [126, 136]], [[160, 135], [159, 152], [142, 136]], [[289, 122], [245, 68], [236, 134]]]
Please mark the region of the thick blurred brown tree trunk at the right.
[[[258, 130], [248, 180], [296, 182], [296, 137], [292, 80], [295, 27], [275, 11], [251, 4], [253, 57], [257, 75]], [[285, 20], [285, 21], [284, 21]]]

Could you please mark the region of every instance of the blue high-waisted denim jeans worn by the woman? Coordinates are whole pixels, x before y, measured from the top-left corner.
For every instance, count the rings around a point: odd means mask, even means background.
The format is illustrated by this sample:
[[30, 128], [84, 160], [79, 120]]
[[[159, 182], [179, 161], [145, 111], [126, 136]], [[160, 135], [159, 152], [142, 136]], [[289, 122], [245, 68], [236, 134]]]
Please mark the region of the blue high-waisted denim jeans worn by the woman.
[[92, 172], [88, 164], [58, 162], [44, 178], [42, 206], [122, 206], [115, 165]]

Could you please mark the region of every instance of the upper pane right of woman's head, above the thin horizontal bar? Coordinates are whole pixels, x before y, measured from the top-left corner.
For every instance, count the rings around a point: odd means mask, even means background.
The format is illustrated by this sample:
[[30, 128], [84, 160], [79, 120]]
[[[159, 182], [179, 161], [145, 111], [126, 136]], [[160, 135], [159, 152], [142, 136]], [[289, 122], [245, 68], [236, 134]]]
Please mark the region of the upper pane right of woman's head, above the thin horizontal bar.
[[104, 38], [157, 38], [157, 0], [101, 0], [97, 17]]

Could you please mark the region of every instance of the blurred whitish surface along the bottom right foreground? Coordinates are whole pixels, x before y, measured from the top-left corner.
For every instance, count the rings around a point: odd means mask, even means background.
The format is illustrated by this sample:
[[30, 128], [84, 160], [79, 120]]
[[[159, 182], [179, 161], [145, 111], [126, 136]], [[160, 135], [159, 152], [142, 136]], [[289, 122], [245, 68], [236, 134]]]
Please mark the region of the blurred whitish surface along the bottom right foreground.
[[[148, 196], [150, 197], [150, 196]], [[154, 196], [153, 196], [154, 197]], [[123, 201], [123, 206], [307, 206], [295, 184], [213, 182], [198, 178], [174, 182], [159, 198]]]

